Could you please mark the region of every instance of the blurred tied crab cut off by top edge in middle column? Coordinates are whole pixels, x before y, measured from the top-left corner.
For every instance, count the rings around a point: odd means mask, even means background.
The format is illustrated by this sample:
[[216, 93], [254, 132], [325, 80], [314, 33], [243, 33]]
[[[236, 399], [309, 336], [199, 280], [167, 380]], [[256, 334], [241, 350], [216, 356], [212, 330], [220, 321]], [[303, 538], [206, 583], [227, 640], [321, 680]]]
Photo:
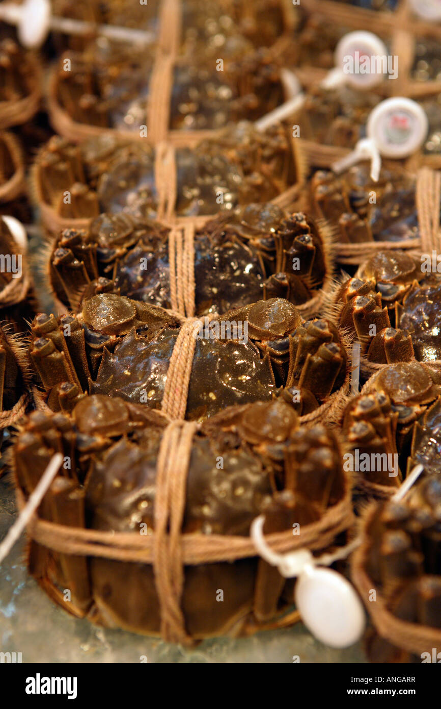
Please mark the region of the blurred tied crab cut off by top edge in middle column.
[[[217, 57], [219, 49], [230, 45], [242, 52], [278, 46], [296, 22], [296, 12], [284, 0], [256, 0], [252, 6], [244, 0], [149, 0], [147, 5], [120, 0], [54, 0], [52, 6], [58, 17], [155, 33], [151, 41], [156, 40], [165, 52], [173, 48], [188, 57]], [[58, 48], [82, 50], [90, 42], [87, 35], [60, 38], [52, 31], [54, 35]]]

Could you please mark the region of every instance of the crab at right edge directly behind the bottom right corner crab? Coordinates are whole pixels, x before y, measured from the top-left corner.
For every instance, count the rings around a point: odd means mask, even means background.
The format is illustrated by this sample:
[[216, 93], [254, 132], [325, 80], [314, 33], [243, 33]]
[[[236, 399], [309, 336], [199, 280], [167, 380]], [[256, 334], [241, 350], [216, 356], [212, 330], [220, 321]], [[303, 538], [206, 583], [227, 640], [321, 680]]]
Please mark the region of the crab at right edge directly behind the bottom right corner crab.
[[389, 498], [416, 464], [439, 473], [441, 363], [388, 364], [343, 413], [345, 468], [368, 496]]

